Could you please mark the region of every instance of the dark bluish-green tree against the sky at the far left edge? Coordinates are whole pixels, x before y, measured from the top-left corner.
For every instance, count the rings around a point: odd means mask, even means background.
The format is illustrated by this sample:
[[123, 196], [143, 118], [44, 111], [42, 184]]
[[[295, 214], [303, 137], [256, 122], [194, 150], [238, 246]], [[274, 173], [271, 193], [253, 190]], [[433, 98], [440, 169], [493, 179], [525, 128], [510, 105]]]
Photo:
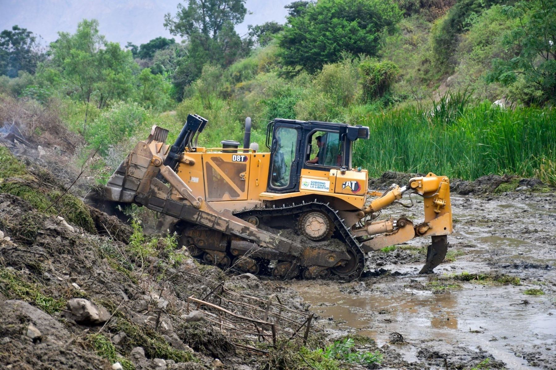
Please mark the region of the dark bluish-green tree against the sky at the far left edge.
[[17, 77], [20, 70], [34, 73], [39, 60], [44, 55], [39, 52], [37, 38], [31, 31], [13, 26], [11, 31], [0, 33], [0, 74]]

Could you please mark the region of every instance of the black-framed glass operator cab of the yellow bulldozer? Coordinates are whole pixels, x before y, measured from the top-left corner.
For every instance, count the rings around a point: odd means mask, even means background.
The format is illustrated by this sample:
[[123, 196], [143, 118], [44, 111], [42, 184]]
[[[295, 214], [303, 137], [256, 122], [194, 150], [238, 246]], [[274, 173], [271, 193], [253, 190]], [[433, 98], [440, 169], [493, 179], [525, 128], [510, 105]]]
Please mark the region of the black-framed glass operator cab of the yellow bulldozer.
[[369, 128], [321, 121], [275, 119], [267, 126], [270, 149], [269, 192], [299, 189], [301, 170], [351, 169], [351, 150], [357, 139], [368, 139]]

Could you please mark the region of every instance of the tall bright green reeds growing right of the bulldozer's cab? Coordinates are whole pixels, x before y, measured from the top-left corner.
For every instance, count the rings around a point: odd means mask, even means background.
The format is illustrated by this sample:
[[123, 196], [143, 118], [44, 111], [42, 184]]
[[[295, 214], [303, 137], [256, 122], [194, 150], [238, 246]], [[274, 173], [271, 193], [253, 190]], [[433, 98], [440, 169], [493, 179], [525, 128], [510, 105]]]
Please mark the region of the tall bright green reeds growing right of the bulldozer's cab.
[[355, 143], [354, 164], [370, 176], [432, 171], [474, 180], [507, 173], [556, 184], [555, 110], [504, 110], [488, 102], [446, 110], [433, 117], [411, 106], [368, 114], [359, 123], [372, 139]]

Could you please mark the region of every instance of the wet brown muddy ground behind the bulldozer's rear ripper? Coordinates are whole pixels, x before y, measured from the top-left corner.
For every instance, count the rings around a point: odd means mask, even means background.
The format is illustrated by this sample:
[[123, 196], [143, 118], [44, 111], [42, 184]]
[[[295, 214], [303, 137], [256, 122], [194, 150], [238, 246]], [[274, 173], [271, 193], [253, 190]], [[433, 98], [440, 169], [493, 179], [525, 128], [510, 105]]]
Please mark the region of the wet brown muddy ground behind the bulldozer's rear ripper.
[[[359, 282], [288, 284], [331, 337], [365, 334], [400, 353], [406, 364], [393, 368], [471, 369], [488, 358], [488, 368], [555, 369], [556, 196], [453, 195], [451, 204], [450, 262], [432, 276], [418, 275], [428, 242], [418, 238], [371, 254], [371, 277]], [[421, 207], [418, 200], [399, 212], [418, 220]], [[458, 278], [463, 272], [476, 277]], [[493, 276], [518, 277], [520, 285]], [[532, 287], [544, 295], [524, 295]], [[403, 342], [391, 343], [393, 333]]]

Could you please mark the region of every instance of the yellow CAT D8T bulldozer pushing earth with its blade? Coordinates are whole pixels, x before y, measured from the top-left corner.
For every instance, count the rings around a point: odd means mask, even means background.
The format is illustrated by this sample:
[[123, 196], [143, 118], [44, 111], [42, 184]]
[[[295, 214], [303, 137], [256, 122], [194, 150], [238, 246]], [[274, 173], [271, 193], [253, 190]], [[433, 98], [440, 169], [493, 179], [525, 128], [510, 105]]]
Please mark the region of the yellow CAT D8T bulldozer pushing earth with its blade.
[[[160, 212], [158, 227], [176, 231], [205, 263], [275, 278], [355, 280], [369, 252], [418, 236], [431, 237], [420, 273], [444, 260], [449, 179], [429, 173], [369, 191], [368, 172], [351, 163], [368, 127], [275, 119], [261, 151], [250, 143], [250, 118], [241, 148], [198, 146], [207, 123], [188, 115], [172, 145], [168, 130], [153, 126], [108, 180], [106, 199]], [[381, 216], [406, 193], [423, 197], [423, 220]]]

